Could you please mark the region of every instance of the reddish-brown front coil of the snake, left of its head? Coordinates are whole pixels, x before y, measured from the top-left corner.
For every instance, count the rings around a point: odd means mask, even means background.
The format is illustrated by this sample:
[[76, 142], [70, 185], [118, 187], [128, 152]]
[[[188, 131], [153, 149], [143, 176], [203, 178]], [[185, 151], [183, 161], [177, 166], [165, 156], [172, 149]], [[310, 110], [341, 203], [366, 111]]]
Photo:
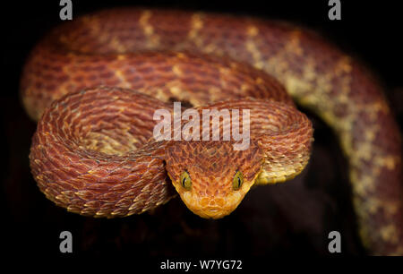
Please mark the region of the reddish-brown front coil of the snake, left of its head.
[[[131, 110], [130, 113], [125, 112], [124, 115], [130, 119], [126, 119], [124, 124], [116, 119], [106, 119], [117, 114], [121, 116], [116, 107], [118, 100], [122, 107]], [[80, 103], [77, 104], [77, 101]], [[64, 106], [69, 111], [64, 111]], [[143, 125], [148, 126], [143, 128], [143, 133], [147, 130], [151, 135], [155, 124], [152, 115], [149, 121], [143, 119], [144, 112], [152, 113], [153, 107], [168, 106], [131, 90], [107, 88], [87, 90], [57, 100], [40, 120], [38, 132], [32, 141], [31, 168], [41, 191], [68, 210], [99, 217], [140, 213], [168, 201], [174, 192], [167, 185], [166, 171], [160, 157], [163, 154], [162, 145], [145, 145], [141, 146], [141, 150], [118, 156], [114, 150], [106, 151], [111, 154], [105, 154], [88, 149], [81, 139], [93, 130], [107, 129], [108, 125], [98, 124], [99, 121], [117, 127], [134, 127], [139, 118]], [[139, 109], [142, 112], [137, 114]], [[92, 115], [87, 116], [89, 111]], [[67, 113], [75, 116], [73, 123], [64, 123]], [[99, 113], [102, 116], [97, 115]], [[79, 133], [72, 134], [76, 129]], [[133, 184], [139, 181], [142, 183]], [[135, 201], [141, 192], [147, 195]]]

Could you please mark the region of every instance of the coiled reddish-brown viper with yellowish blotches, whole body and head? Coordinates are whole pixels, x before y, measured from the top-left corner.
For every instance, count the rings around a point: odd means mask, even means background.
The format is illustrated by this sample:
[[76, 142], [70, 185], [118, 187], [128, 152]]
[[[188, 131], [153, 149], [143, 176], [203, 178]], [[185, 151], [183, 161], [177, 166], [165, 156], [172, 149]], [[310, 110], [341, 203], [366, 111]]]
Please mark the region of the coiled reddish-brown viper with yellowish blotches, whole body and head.
[[[38, 121], [30, 168], [40, 191], [100, 218], [140, 214], [177, 194], [201, 218], [231, 214], [255, 185], [285, 182], [307, 165], [313, 125], [302, 106], [338, 136], [366, 250], [403, 254], [401, 137], [384, 88], [313, 30], [233, 14], [101, 10], [39, 40], [20, 90]], [[234, 138], [156, 140], [155, 111], [175, 118], [173, 102], [194, 116], [249, 111], [248, 148], [234, 150]], [[187, 133], [201, 133], [193, 125]], [[178, 128], [167, 136], [181, 137]]]

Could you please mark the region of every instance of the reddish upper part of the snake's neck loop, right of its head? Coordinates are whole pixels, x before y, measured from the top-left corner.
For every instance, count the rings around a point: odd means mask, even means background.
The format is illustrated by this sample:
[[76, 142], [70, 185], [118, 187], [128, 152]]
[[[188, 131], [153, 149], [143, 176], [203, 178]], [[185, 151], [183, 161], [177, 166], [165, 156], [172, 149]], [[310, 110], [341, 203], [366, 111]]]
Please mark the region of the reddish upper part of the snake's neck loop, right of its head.
[[[251, 140], [257, 141], [264, 151], [264, 170], [270, 172], [278, 168], [276, 165], [279, 163], [284, 167], [306, 166], [313, 141], [313, 128], [311, 121], [295, 107], [285, 103], [245, 98], [201, 107], [203, 108], [250, 110]], [[240, 118], [240, 132], [243, 132], [242, 115]], [[220, 124], [220, 134], [222, 133]], [[210, 136], [211, 134], [210, 132]]]

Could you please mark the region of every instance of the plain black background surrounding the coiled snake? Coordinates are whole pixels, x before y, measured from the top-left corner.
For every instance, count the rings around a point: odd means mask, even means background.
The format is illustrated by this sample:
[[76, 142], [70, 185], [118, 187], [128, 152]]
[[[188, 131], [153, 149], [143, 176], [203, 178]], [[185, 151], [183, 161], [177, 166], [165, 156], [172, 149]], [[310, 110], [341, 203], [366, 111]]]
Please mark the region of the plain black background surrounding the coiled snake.
[[[14, 1], [16, 2], [16, 1]], [[401, 11], [392, 2], [341, 1], [341, 21], [328, 19], [328, 1], [78, 1], [73, 18], [118, 5], [174, 7], [295, 21], [322, 32], [367, 64], [384, 84], [391, 108], [403, 121]], [[84, 218], [47, 201], [30, 175], [30, 138], [36, 124], [18, 95], [21, 68], [30, 49], [60, 23], [59, 1], [2, 3], [1, 209], [4, 249], [16, 256], [150, 256], [176, 258], [266, 258], [334, 256], [328, 234], [342, 235], [342, 255], [364, 255], [356, 233], [347, 163], [330, 128], [315, 116], [309, 166], [287, 184], [251, 190], [239, 208], [218, 221], [201, 219], [174, 199], [139, 216]], [[58, 251], [61, 231], [73, 233], [73, 254]], [[254, 259], [253, 259], [254, 260]], [[257, 260], [257, 259], [256, 259]]]

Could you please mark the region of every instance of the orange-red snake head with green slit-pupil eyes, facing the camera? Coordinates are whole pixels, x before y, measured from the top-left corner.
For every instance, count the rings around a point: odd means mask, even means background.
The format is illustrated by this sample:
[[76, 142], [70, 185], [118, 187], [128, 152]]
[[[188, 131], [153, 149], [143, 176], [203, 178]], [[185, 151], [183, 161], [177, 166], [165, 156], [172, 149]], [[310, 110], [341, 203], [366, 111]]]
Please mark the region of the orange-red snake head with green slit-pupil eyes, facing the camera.
[[253, 142], [173, 141], [167, 173], [182, 201], [201, 218], [223, 218], [236, 209], [262, 171], [262, 150]]

